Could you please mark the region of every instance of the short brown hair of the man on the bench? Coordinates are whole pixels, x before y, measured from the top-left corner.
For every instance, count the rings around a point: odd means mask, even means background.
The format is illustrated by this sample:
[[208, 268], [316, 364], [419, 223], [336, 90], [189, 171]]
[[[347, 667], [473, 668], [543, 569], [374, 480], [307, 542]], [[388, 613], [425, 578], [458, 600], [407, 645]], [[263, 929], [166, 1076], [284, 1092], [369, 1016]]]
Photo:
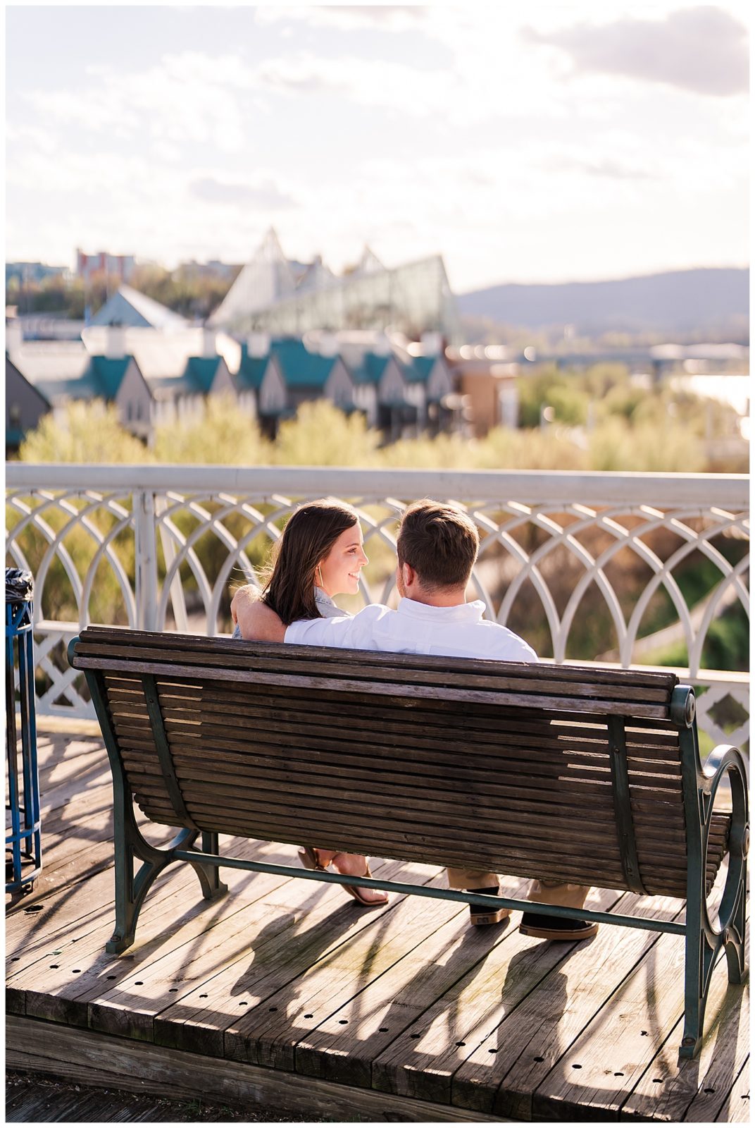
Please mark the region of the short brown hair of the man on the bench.
[[396, 554], [434, 591], [465, 587], [479, 547], [477, 527], [463, 510], [425, 499], [405, 510]]

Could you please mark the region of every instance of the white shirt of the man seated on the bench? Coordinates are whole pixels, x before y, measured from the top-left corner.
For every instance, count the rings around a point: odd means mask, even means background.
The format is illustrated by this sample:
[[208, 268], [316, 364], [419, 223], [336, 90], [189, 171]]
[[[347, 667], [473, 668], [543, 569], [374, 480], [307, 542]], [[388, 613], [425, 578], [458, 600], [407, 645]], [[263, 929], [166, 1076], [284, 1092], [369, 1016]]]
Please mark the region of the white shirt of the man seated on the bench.
[[539, 661], [523, 638], [499, 623], [483, 619], [483, 614], [485, 603], [479, 599], [456, 607], [430, 607], [403, 598], [396, 611], [382, 603], [370, 603], [354, 617], [299, 619], [287, 627], [285, 641], [300, 646]]

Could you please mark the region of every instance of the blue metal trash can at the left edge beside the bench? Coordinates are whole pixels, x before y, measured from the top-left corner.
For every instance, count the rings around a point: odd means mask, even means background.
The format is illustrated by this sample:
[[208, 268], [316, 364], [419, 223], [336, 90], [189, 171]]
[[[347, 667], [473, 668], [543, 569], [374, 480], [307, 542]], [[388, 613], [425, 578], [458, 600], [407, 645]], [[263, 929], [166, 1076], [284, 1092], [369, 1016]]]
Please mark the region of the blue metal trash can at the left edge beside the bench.
[[[30, 890], [42, 870], [37, 730], [34, 712], [34, 584], [6, 569], [6, 892]], [[16, 675], [18, 673], [18, 700]], [[20, 708], [20, 733], [16, 710]], [[20, 760], [19, 760], [20, 735]], [[10, 818], [8, 818], [10, 816]], [[10, 829], [8, 825], [10, 823]]]

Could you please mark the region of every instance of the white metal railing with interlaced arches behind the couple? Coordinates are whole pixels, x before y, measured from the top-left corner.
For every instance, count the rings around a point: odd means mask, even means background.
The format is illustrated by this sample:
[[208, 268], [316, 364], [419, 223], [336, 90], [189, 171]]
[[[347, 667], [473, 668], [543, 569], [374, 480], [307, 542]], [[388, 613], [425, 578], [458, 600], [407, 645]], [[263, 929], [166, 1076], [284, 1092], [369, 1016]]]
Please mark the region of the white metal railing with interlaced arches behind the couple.
[[[673, 622], [659, 638], [684, 652], [678, 672], [699, 687], [701, 728], [716, 742], [748, 737], [747, 672], [703, 668], [717, 617], [737, 606], [749, 614], [745, 475], [10, 462], [6, 484], [8, 563], [35, 576], [43, 713], [94, 715], [63, 654], [87, 623], [228, 629], [231, 581], [256, 579], [264, 549], [307, 499], [357, 506], [367, 554], [378, 555], [362, 600], [394, 599], [398, 518], [430, 496], [463, 504], [480, 530], [472, 585], [489, 618], [556, 662], [583, 661], [585, 619], [599, 618], [612, 638], [592, 658], [630, 667], [647, 654], [647, 616], [663, 599]], [[714, 582], [687, 599], [678, 576], [695, 567]], [[734, 731], [717, 720], [725, 698], [741, 711]]]

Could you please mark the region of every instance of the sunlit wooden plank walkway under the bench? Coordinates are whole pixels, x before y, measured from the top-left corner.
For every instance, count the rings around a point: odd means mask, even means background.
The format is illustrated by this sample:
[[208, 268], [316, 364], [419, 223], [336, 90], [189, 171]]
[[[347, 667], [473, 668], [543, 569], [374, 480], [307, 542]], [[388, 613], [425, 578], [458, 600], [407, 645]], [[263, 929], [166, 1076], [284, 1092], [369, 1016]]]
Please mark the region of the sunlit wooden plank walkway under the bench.
[[[107, 955], [107, 756], [83, 724], [42, 732], [38, 748], [44, 872], [9, 906], [9, 1067], [335, 1120], [749, 1120], [747, 992], [723, 967], [700, 1057], [677, 1065], [681, 937], [603, 926], [548, 944], [519, 935], [517, 914], [470, 928], [448, 901], [363, 909], [336, 885], [234, 870], [208, 905], [192, 869], [172, 866], [136, 944]], [[291, 846], [225, 846], [295, 864]], [[373, 871], [444, 880], [415, 864]], [[592, 907], [614, 905], [683, 909], [594, 891]]]

